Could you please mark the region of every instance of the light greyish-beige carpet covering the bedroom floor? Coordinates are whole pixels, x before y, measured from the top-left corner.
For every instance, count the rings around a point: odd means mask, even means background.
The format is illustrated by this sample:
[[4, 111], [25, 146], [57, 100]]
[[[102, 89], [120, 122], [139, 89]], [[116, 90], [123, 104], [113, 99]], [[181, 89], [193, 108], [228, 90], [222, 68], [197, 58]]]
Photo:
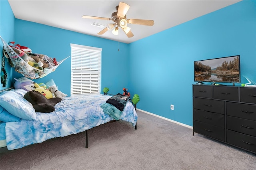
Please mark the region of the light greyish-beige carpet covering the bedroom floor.
[[138, 111], [118, 121], [1, 154], [1, 170], [255, 170], [256, 154]]

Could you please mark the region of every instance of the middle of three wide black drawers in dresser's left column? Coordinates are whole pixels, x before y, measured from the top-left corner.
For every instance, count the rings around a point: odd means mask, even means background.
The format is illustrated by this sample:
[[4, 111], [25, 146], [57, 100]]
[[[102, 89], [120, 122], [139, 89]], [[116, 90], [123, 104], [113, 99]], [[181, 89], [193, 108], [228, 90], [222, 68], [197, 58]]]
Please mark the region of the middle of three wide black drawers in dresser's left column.
[[194, 109], [194, 120], [224, 128], [224, 115]]

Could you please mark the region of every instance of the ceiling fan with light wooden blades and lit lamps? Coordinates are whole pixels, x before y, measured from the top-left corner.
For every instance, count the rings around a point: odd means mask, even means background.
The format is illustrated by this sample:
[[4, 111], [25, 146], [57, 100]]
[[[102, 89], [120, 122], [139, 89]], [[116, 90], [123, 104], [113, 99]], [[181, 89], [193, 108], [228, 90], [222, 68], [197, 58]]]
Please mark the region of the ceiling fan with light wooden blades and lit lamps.
[[82, 16], [82, 18], [87, 19], [98, 19], [98, 20], [112, 20], [114, 24], [107, 24], [106, 28], [98, 32], [98, 35], [102, 35], [108, 30], [112, 30], [114, 35], [118, 35], [119, 27], [125, 32], [128, 38], [133, 37], [134, 35], [131, 32], [131, 28], [127, 26], [127, 24], [139, 24], [144, 26], [153, 26], [153, 20], [139, 20], [139, 19], [126, 19], [126, 13], [128, 12], [130, 6], [124, 2], [119, 2], [119, 6], [116, 6], [117, 12], [113, 12], [111, 17], [112, 18], [104, 18], [104, 17], [97, 17], [97, 16]]

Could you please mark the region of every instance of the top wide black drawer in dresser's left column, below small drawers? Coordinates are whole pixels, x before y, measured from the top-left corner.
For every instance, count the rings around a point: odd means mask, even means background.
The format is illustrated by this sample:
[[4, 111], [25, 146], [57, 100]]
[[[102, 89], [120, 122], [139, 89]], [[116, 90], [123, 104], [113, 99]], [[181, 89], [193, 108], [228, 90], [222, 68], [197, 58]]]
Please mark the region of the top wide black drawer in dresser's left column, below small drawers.
[[214, 112], [225, 113], [224, 101], [194, 98], [194, 109]]

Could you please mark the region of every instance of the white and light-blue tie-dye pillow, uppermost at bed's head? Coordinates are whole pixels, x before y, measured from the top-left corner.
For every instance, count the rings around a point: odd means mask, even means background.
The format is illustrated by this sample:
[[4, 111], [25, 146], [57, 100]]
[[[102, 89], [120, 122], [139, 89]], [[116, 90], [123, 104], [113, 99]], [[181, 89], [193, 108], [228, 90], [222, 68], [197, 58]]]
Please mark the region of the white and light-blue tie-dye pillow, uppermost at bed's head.
[[36, 119], [33, 105], [24, 99], [22, 89], [10, 90], [0, 96], [0, 105], [10, 114], [25, 120]]

